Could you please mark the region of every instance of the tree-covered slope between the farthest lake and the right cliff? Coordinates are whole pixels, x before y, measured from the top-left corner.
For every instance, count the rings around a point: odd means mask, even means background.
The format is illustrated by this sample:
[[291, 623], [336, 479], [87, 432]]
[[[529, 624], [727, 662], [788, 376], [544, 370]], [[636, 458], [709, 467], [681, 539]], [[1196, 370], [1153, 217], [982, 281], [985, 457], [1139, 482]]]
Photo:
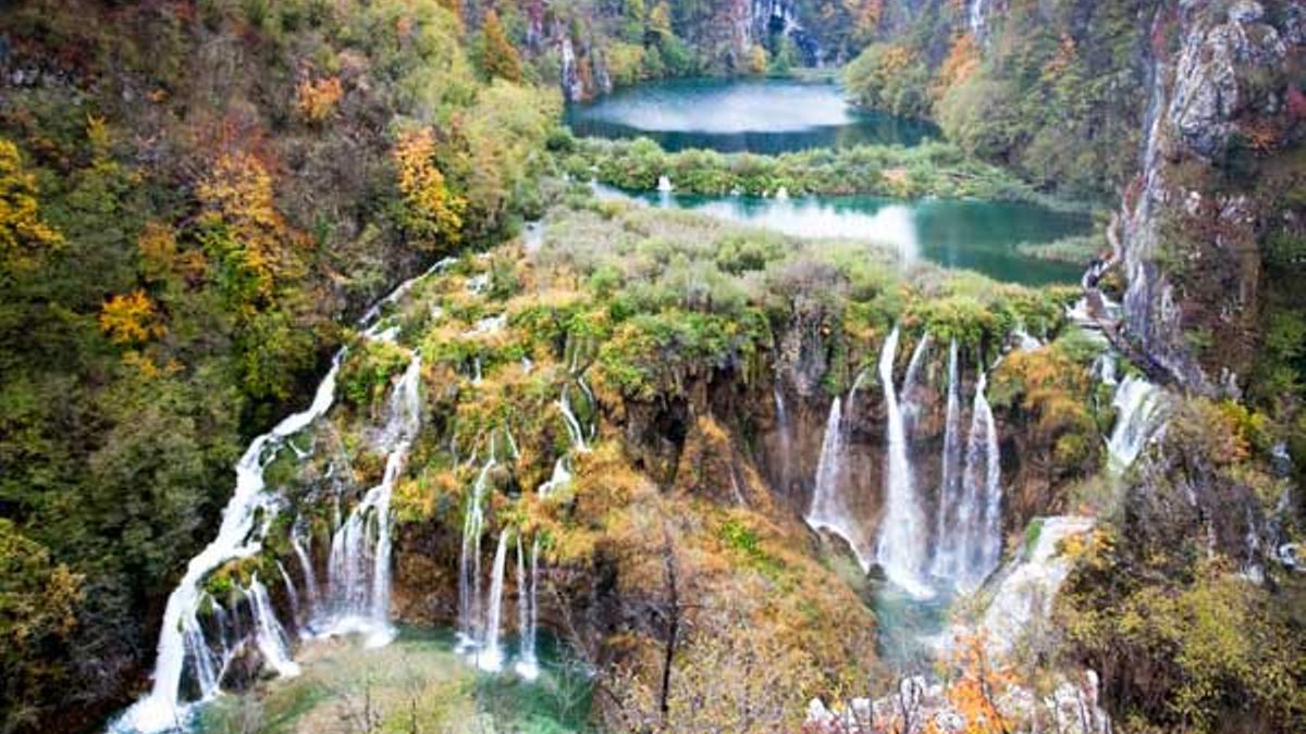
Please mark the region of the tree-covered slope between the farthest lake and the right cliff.
[[968, 3], [938, 3], [867, 46], [844, 82], [862, 104], [938, 120], [1040, 188], [1113, 192], [1138, 168], [1151, 40], [1140, 18], [1156, 5], [1016, 1], [976, 38]]

